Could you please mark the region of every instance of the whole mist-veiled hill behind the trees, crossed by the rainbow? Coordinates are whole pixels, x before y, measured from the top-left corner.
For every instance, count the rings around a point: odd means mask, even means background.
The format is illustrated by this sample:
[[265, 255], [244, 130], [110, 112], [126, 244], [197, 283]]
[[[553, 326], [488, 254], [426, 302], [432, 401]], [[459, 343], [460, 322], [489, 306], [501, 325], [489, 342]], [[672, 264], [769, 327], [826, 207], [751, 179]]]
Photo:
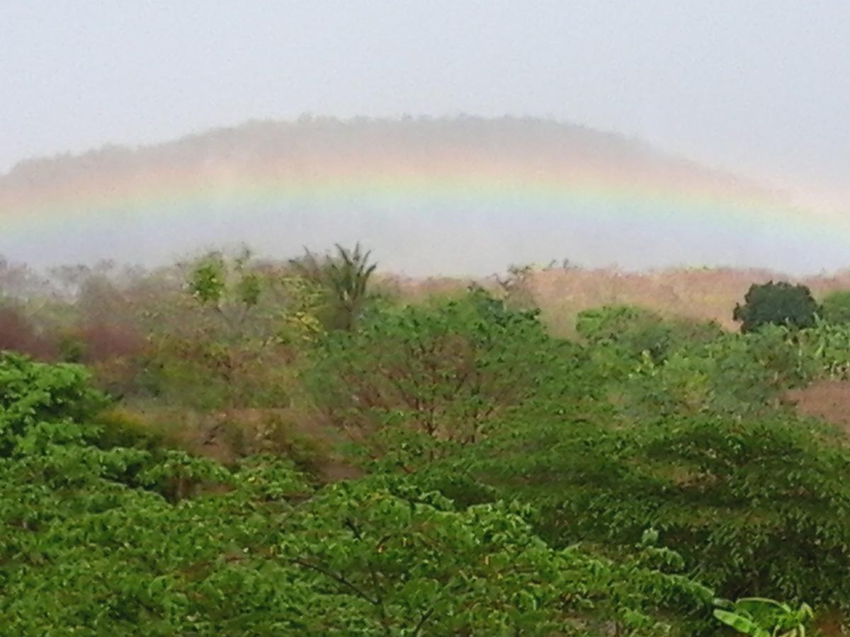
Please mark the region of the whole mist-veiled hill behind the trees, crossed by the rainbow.
[[807, 273], [846, 266], [850, 238], [841, 217], [642, 141], [477, 117], [253, 121], [25, 161], [0, 177], [0, 220], [0, 254], [37, 265], [360, 240], [414, 275], [563, 258]]

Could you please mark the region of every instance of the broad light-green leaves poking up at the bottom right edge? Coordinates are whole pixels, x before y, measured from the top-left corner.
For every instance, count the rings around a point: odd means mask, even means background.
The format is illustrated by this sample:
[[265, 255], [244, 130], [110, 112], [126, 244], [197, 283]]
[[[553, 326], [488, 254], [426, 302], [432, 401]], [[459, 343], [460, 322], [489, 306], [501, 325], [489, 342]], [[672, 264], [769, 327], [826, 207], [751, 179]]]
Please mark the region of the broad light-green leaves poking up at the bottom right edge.
[[717, 608], [714, 617], [753, 637], [806, 637], [806, 626], [814, 617], [808, 604], [793, 610], [785, 603], [762, 597], [744, 597], [734, 604], [723, 602], [722, 606], [729, 610]]

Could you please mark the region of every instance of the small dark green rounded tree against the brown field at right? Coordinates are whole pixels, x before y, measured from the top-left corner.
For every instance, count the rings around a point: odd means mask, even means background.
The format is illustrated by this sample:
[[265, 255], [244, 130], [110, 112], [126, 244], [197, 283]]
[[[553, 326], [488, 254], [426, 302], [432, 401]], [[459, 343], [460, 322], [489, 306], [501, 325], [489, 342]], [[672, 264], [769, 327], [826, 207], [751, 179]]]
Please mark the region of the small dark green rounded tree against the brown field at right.
[[769, 281], [751, 285], [744, 305], [735, 305], [732, 318], [740, 321], [742, 332], [757, 330], [764, 324], [805, 328], [813, 327], [818, 311], [818, 303], [807, 286]]

